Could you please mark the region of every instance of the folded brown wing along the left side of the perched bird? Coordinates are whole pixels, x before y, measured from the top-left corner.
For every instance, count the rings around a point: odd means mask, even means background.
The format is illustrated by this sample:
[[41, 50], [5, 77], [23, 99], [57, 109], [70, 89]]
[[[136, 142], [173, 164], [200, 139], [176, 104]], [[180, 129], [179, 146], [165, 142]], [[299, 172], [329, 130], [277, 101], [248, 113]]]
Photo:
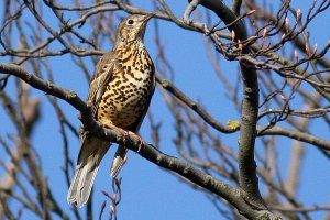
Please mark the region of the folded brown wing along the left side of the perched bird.
[[107, 53], [97, 64], [88, 91], [88, 102], [91, 105], [92, 116], [96, 117], [99, 103], [112, 78], [112, 70], [116, 63], [113, 52]]

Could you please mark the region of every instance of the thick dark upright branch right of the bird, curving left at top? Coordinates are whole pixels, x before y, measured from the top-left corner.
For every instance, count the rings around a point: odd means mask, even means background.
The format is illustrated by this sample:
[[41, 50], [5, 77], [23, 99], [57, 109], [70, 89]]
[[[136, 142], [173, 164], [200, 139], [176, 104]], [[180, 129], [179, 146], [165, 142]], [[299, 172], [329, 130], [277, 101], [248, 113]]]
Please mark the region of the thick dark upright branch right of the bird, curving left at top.
[[[212, 10], [226, 24], [237, 20], [237, 14], [218, 0], [200, 0], [199, 3]], [[238, 9], [235, 9], [238, 11]], [[246, 30], [242, 21], [235, 22], [229, 26], [230, 31], [235, 33], [240, 41], [248, 38]], [[242, 53], [250, 53], [250, 47], [244, 47]], [[264, 201], [260, 195], [256, 165], [254, 162], [254, 143], [256, 136], [256, 122], [258, 112], [258, 84], [255, 68], [249, 68], [242, 62], [240, 67], [243, 77], [243, 103], [240, 127], [240, 180], [244, 197], [253, 206], [265, 208]]]

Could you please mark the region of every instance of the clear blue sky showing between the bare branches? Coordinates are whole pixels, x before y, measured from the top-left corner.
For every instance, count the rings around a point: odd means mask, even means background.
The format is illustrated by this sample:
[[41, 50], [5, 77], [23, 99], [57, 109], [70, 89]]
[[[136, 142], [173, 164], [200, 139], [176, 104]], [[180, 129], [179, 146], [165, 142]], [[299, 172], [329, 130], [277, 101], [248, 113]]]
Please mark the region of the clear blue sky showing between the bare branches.
[[[142, 6], [145, 9], [152, 9], [151, 4], [146, 6], [145, 1], [133, 1], [135, 6]], [[229, 1], [226, 1], [229, 2]], [[0, 3], [0, 8], [2, 2]], [[145, 6], [143, 6], [145, 4]], [[168, 4], [173, 9], [175, 15], [183, 16], [186, 7], [186, 1], [169, 0]], [[301, 8], [302, 12], [308, 9], [308, 4], [302, 1], [293, 1], [293, 6]], [[201, 11], [204, 9], [200, 9]], [[2, 11], [0, 18], [2, 18]], [[125, 14], [117, 12], [118, 14]], [[50, 14], [45, 14], [48, 16]], [[51, 15], [50, 15], [51, 18]], [[216, 20], [215, 20], [216, 21]], [[323, 13], [310, 25], [311, 42], [318, 43], [320, 47], [329, 41], [330, 36], [330, 13]], [[55, 26], [55, 24], [54, 24]], [[55, 28], [54, 28], [55, 29]], [[228, 120], [239, 120], [238, 112], [233, 111], [234, 106], [226, 99], [226, 90], [221, 81], [217, 78], [210, 62], [207, 57], [207, 52], [204, 46], [202, 36], [195, 32], [182, 30], [173, 23], [160, 21], [161, 35], [166, 43], [166, 55], [169, 57], [176, 74], [174, 84], [184, 92], [188, 94], [194, 100], [201, 100], [206, 109], [215, 116], [216, 119], [226, 123]], [[18, 36], [19, 37], [19, 36]], [[18, 41], [18, 38], [15, 40]], [[156, 57], [157, 52], [154, 45], [154, 23], [150, 22], [145, 44], [152, 57]], [[110, 48], [102, 48], [109, 51]], [[329, 55], [327, 56], [329, 58]], [[9, 61], [7, 57], [1, 61]], [[68, 61], [68, 62], [67, 62]], [[230, 81], [235, 81], [238, 76], [238, 67], [235, 62], [228, 62], [224, 58], [220, 61], [220, 66], [223, 68]], [[68, 55], [64, 57], [53, 57], [51, 65], [55, 82], [62, 87], [73, 89], [85, 99], [87, 96], [88, 84], [84, 78], [80, 69], [73, 65]], [[90, 73], [94, 72], [91, 65], [88, 66]], [[7, 87], [8, 91], [13, 90], [14, 80], [11, 78]], [[61, 167], [64, 164], [63, 158], [63, 143], [59, 135], [59, 125], [56, 120], [51, 103], [46, 100], [41, 91], [33, 90], [34, 96], [41, 97], [43, 100], [42, 110], [46, 112], [42, 116], [38, 125], [33, 134], [33, 143], [36, 151], [43, 160], [43, 170], [47, 175], [47, 180], [53, 188], [55, 198], [61, 201], [62, 207], [66, 210], [69, 206], [66, 204], [67, 187], [64, 187], [64, 175]], [[78, 112], [64, 101], [58, 101], [63, 107], [66, 116], [77, 128], [79, 121], [77, 119]], [[226, 103], [226, 105], [223, 105]], [[164, 99], [160, 95], [158, 89], [154, 95], [151, 103], [151, 111], [153, 112], [156, 121], [162, 121], [163, 127], [161, 130], [161, 150], [174, 156], [177, 156], [175, 145], [172, 141], [174, 131], [174, 121], [165, 105]], [[3, 109], [0, 109], [0, 114], [3, 114]], [[11, 122], [7, 118], [0, 118], [1, 124], [0, 134], [4, 135], [8, 132], [14, 132]], [[317, 123], [312, 127], [314, 133], [319, 134], [327, 139], [329, 130], [327, 128], [319, 128]], [[150, 138], [148, 121], [145, 120], [141, 128], [141, 135], [147, 141], [152, 142]], [[70, 156], [74, 160], [78, 155], [78, 140], [68, 131]], [[237, 148], [237, 140], [239, 133], [224, 135], [219, 134], [221, 141], [233, 148]], [[329, 140], [329, 138], [328, 138]], [[287, 158], [289, 157], [290, 142], [287, 139], [280, 139], [278, 148], [280, 152], [280, 168], [286, 170]], [[257, 142], [258, 147], [261, 142]], [[109, 167], [112, 160], [116, 145], [111, 147], [106, 157], [103, 158], [98, 176], [95, 183], [95, 216], [98, 216], [101, 202], [106, 197], [100, 193], [100, 189], [111, 189], [111, 179], [109, 177]], [[310, 145], [306, 145], [306, 165], [304, 167], [299, 198], [308, 202], [310, 206], [321, 201], [329, 204], [329, 187], [330, 180], [329, 164], [324, 157]], [[0, 148], [0, 153], [1, 153]], [[317, 163], [316, 163], [317, 162]], [[0, 169], [0, 172], [3, 172]], [[1, 174], [1, 173], [0, 173]], [[118, 206], [119, 219], [219, 219], [220, 215], [206, 198], [205, 194], [193, 189], [186, 184], [179, 182], [174, 175], [155, 166], [143, 160], [135, 153], [129, 153], [129, 162], [125, 164], [120, 176], [122, 180], [122, 201]], [[318, 187], [316, 187], [318, 186]], [[312, 188], [312, 194], [310, 189]], [[109, 201], [108, 201], [109, 205]], [[15, 202], [12, 204], [15, 206]], [[109, 209], [108, 209], [109, 210]], [[81, 212], [85, 210], [82, 209]], [[314, 217], [319, 218], [322, 213], [316, 213]], [[107, 213], [106, 213], [107, 216]]]

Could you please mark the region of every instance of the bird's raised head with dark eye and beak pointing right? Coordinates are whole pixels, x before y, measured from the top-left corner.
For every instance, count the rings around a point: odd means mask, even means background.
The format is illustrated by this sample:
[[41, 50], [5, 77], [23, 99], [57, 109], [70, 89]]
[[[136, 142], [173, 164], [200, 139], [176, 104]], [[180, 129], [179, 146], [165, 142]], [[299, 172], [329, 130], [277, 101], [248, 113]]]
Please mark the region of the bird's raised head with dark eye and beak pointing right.
[[133, 42], [144, 37], [147, 21], [155, 14], [133, 14], [125, 18], [117, 31], [117, 42]]

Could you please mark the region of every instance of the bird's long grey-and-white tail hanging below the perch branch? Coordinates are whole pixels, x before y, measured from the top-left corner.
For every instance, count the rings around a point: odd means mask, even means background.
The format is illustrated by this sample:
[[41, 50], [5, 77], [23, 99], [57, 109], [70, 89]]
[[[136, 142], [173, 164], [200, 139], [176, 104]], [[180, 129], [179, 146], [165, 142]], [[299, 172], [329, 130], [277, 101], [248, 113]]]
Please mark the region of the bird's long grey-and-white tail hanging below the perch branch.
[[92, 136], [84, 136], [74, 180], [67, 200], [77, 207], [84, 206], [89, 198], [99, 164], [110, 143]]

